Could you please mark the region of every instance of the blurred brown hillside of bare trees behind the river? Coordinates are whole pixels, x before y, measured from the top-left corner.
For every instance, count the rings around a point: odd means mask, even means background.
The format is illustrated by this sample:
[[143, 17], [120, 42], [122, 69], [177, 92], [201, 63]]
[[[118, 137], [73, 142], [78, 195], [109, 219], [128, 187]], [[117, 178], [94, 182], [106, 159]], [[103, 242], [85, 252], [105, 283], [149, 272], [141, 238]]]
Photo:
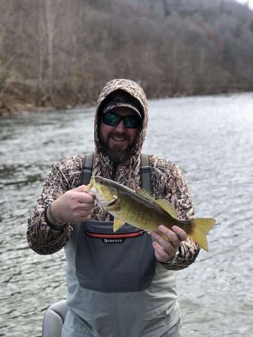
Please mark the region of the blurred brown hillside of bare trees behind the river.
[[0, 0], [0, 109], [253, 91], [253, 11], [225, 0]]

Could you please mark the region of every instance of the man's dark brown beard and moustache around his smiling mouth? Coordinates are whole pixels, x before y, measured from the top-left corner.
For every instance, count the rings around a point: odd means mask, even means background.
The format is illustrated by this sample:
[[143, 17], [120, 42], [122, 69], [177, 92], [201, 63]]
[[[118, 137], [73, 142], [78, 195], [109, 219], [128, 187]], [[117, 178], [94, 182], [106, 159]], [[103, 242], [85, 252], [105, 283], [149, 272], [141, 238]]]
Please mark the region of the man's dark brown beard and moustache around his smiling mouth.
[[122, 149], [121, 145], [116, 145], [116, 144], [110, 145], [109, 144], [109, 138], [110, 137], [119, 137], [119, 138], [123, 137], [123, 138], [126, 138], [127, 140], [129, 140], [128, 135], [115, 134], [115, 133], [114, 134], [108, 134], [107, 140], [103, 140], [100, 137], [100, 142], [102, 144], [104, 153], [109, 157], [109, 159], [113, 163], [129, 162], [133, 144], [130, 144], [128, 142], [128, 146], [125, 149]]

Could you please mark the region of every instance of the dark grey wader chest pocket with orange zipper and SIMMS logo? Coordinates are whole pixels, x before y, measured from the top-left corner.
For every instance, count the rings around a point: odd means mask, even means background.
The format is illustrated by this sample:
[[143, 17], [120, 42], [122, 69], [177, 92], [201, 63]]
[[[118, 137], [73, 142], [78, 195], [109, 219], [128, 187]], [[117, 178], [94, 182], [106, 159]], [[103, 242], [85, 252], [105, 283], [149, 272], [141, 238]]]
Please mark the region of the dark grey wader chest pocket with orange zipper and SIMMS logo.
[[152, 239], [129, 224], [113, 233], [113, 222], [87, 220], [79, 231], [75, 266], [83, 288], [101, 292], [144, 290], [155, 273]]

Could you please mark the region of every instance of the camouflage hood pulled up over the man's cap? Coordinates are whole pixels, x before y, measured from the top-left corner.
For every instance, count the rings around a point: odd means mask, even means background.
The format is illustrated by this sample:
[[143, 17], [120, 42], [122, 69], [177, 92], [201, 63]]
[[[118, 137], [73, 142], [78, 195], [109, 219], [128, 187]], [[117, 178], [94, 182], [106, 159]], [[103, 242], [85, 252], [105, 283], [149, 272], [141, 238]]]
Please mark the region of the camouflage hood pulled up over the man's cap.
[[105, 156], [105, 154], [102, 153], [102, 146], [99, 141], [100, 107], [101, 107], [101, 104], [106, 99], [106, 97], [116, 90], [123, 90], [129, 93], [130, 95], [132, 95], [134, 98], [138, 100], [142, 108], [142, 124], [141, 124], [139, 133], [137, 135], [135, 144], [133, 145], [132, 152], [131, 152], [131, 155], [138, 155], [141, 153], [142, 145], [143, 145], [146, 132], [147, 132], [147, 122], [148, 122], [147, 98], [141, 86], [138, 83], [130, 79], [111, 80], [110, 82], [106, 84], [104, 89], [101, 91], [101, 94], [99, 95], [98, 103], [97, 103], [97, 110], [95, 114], [95, 125], [94, 125], [94, 140], [95, 140], [96, 152], [98, 153], [99, 156]]

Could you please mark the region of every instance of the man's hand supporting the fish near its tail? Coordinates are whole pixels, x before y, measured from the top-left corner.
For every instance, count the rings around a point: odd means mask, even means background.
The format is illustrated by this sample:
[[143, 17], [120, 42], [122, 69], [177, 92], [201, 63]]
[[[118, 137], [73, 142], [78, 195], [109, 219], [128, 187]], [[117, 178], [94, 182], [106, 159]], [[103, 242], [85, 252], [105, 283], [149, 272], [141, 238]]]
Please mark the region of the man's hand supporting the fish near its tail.
[[155, 250], [155, 257], [159, 262], [166, 262], [175, 256], [181, 242], [187, 239], [187, 234], [178, 226], [173, 226], [172, 230], [170, 230], [165, 226], [160, 225], [158, 229], [169, 239], [169, 241], [164, 239], [157, 232], [151, 233], [152, 237], [155, 239], [155, 242], [152, 243]]

